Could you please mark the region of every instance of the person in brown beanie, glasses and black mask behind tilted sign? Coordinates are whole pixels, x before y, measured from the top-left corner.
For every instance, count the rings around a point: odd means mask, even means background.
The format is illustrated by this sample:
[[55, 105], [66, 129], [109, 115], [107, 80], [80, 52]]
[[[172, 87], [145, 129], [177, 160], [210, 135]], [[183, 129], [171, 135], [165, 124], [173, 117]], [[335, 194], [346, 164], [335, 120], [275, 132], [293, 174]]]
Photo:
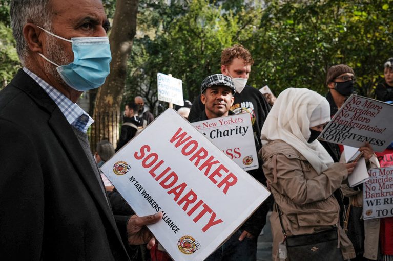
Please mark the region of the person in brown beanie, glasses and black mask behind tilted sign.
[[[326, 75], [326, 85], [329, 88], [329, 92], [326, 95], [326, 99], [330, 104], [330, 115], [333, 117], [340, 107], [344, 104], [345, 100], [354, 91], [354, 83], [356, 81], [354, 70], [345, 64], [335, 65], [329, 68]], [[321, 141], [322, 146], [332, 156], [334, 162], [339, 162], [343, 147], [337, 144], [328, 143]], [[372, 157], [372, 149], [366, 144], [361, 148], [362, 150], [371, 151], [370, 153], [363, 154], [368, 164], [377, 167], [374, 164], [374, 157]], [[379, 220], [371, 219], [363, 221], [361, 219], [362, 204], [354, 204], [354, 202], [363, 202], [359, 200], [362, 196], [362, 184], [354, 188], [343, 184], [341, 189], [337, 189], [334, 192], [334, 196], [340, 206], [340, 225], [347, 224], [348, 238], [353, 242], [356, 257], [352, 260], [378, 260], [378, 233], [379, 233]], [[358, 200], [356, 200], [358, 199]], [[345, 215], [344, 209], [351, 207], [348, 215]], [[358, 209], [358, 211], [356, 211]], [[353, 222], [358, 220], [358, 222]], [[364, 232], [361, 232], [364, 231]], [[359, 239], [360, 238], [360, 239]]]

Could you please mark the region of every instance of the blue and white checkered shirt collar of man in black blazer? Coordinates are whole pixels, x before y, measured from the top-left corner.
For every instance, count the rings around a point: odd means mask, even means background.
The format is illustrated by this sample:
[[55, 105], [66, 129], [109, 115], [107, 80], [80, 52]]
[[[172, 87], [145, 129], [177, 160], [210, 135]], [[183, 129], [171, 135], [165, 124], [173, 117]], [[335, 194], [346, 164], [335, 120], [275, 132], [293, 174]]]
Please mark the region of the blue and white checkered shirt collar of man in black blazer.
[[32, 73], [26, 67], [23, 68], [25, 73], [27, 73], [31, 78], [34, 79], [41, 86], [46, 93], [48, 93], [49, 97], [57, 104], [60, 111], [64, 114], [67, 121], [82, 132], [87, 132], [90, 125], [94, 122], [94, 120], [89, 116], [89, 114], [79, 107], [76, 103], [73, 103], [70, 99], [68, 99], [63, 93], [58, 91], [57, 89], [50, 86], [43, 79], [39, 78], [37, 75]]

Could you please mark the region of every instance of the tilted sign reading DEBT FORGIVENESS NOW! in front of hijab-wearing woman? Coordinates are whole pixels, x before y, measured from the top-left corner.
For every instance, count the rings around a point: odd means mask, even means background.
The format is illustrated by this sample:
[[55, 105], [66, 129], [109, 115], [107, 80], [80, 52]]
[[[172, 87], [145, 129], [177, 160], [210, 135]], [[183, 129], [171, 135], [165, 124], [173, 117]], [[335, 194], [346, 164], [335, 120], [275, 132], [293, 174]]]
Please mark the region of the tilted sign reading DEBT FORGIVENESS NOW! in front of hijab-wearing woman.
[[356, 148], [367, 141], [383, 151], [393, 140], [392, 122], [393, 105], [352, 94], [318, 139]]

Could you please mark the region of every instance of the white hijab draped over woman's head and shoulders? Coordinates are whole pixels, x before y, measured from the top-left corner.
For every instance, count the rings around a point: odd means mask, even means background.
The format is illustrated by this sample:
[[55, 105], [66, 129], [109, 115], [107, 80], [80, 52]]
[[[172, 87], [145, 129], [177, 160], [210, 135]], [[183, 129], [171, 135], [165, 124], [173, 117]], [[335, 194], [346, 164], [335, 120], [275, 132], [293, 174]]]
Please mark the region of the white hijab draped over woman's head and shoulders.
[[280, 93], [266, 117], [261, 131], [262, 144], [276, 139], [285, 141], [320, 174], [333, 163], [333, 159], [318, 140], [312, 143], [307, 140], [310, 127], [329, 120], [330, 106], [323, 96], [306, 88], [288, 88]]

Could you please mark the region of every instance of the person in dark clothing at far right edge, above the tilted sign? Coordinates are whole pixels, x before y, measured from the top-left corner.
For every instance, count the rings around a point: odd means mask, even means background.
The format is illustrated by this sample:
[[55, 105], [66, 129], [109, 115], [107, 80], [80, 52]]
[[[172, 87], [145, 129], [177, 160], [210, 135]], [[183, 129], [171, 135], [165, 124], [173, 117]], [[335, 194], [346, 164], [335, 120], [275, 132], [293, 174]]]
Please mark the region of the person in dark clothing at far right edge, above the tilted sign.
[[377, 85], [375, 99], [383, 102], [393, 101], [393, 57], [390, 57], [383, 67], [385, 82]]

